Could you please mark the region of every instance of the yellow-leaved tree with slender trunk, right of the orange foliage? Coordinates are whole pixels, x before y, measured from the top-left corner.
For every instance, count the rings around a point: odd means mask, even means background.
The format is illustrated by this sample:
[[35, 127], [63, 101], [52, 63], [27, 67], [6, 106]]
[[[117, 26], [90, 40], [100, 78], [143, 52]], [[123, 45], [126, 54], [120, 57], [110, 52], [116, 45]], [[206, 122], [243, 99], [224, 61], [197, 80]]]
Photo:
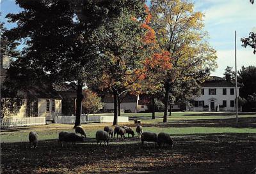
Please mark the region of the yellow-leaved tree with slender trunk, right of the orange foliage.
[[151, 4], [152, 28], [157, 31], [157, 42], [172, 57], [173, 66], [166, 69], [166, 76], [163, 76], [163, 122], [167, 122], [169, 93], [175, 79], [179, 77], [186, 81], [200, 76], [198, 81], [204, 80], [207, 71], [216, 68], [216, 51], [205, 41], [203, 14], [193, 11], [192, 3], [153, 0]]

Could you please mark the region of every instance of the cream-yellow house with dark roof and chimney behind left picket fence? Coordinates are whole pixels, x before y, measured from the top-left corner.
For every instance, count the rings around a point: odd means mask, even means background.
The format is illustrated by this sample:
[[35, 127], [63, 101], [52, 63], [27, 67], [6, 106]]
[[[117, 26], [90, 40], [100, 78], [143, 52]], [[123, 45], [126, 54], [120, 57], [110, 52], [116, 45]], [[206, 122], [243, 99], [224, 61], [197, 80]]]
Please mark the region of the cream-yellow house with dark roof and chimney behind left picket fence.
[[[9, 66], [10, 56], [3, 55], [1, 57], [1, 83], [7, 78], [6, 72]], [[61, 115], [62, 98], [52, 85], [42, 82], [27, 90], [19, 91], [19, 94], [24, 98], [24, 103], [19, 112], [16, 115], [11, 115], [12, 117], [45, 117], [45, 120], [54, 120], [56, 115]], [[4, 98], [8, 98], [8, 96], [4, 96]]]

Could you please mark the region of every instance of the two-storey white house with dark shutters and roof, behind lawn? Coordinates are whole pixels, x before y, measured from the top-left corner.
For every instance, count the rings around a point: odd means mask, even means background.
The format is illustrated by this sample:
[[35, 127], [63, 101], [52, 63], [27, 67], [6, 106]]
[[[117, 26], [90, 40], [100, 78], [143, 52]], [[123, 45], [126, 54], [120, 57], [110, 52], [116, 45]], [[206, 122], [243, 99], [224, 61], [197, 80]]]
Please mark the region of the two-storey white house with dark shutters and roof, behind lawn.
[[[202, 83], [201, 96], [193, 99], [193, 107], [187, 107], [187, 111], [204, 112], [234, 112], [236, 111], [236, 84], [230, 80], [230, 75], [225, 78], [212, 76], [211, 80]], [[239, 96], [239, 87], [237, 87]], [[239, 108], [241, 111], [241, 108]]]

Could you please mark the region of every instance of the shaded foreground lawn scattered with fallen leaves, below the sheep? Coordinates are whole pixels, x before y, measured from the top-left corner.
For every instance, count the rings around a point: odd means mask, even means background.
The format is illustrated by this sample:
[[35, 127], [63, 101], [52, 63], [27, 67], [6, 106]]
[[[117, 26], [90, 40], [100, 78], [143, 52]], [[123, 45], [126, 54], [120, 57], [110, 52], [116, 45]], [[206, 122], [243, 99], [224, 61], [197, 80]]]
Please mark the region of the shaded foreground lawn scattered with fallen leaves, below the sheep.
[[1, 173], [250, 173], [256, 165], [252, 134], [193, 134], [174, 137], [173, 149], [141, 148], [138, 138], [112, 140], [100, 147], [94, 139], [59, 147], [55, 140], [2, 143]]

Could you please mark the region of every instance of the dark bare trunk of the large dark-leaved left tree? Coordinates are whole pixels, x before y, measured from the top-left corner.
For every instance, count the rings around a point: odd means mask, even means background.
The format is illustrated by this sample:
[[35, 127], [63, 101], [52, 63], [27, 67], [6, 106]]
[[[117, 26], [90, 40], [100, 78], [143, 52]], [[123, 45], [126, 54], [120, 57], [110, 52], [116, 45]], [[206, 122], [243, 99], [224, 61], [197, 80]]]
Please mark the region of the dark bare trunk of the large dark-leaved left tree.
[[82, 101], [83, 101], [83, 83], [79, 83], [77, 85], [77, 90], [76, 90], [76, 122], [75, 126], [80, 126], [81, 124], [81, 113], [82, 113]]

